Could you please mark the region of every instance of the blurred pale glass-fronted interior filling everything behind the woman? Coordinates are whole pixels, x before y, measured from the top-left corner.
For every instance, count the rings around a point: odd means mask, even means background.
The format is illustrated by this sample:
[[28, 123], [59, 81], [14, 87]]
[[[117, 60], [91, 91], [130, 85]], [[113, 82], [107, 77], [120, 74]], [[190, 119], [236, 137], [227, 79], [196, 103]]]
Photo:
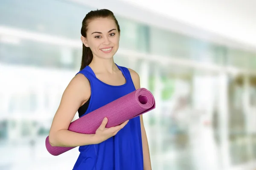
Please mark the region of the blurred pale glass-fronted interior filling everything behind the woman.
[[[1, 0], [0, 170], [71, 170], [78, 147], [45, 148], [79, 71], [81, 22], [108, 8], [115, 62], [140, 74], [153, 170], [256, 169], [256, 1]], [[78, 114], [74, 120], [78, 118]]]

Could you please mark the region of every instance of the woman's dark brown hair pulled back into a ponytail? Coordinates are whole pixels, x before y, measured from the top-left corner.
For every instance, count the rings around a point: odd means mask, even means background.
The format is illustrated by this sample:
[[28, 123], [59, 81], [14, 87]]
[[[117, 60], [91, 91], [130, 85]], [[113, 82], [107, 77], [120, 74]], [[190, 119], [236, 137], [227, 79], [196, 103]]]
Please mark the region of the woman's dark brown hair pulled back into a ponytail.
[[[116, 17], [113, 14], [113, 12], [108, 9], [97, 9], [95, 11], [90, 11], [84, 17], [84, 20], [82, 22], [81, 35], [85, 38], [87, 37], [86, 33], [88, 30], [88, 25], [91, 20], [94, 20], [96, 18], [107, 18], [107, 17], [110, 17], [111, 19], [113, 19], [115, 21], [117, 30], [120, 33], [120, 27], [119, 27], [119, 24], [116, 20]], [[82, 69], [84, 69], [87, 65], [89, 65], [90, 62], [92, 62], [92, 60], [93, 60], [93, 53], [92, 53], [91, 49], [89, 47], [86, 47], [83, 44], [83, 53], [82, 53], [82, 61], [81, 61], [80, 71]]]

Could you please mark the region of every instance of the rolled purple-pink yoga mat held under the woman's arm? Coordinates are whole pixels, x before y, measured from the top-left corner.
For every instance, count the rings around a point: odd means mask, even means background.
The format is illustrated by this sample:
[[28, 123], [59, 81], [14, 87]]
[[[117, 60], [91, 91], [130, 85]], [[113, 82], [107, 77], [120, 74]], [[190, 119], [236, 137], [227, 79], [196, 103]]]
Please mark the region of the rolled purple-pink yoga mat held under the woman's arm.
[[[77, 133], [95, 134], [105, 117], [108, 118], [106, 127], [113, 127], [154, 108], [154, 96], [146, 88], [140, 88], [76, 119], [70, 123], [68, 130]], [[49, 136], [45, 140], [45, 145], [48, 152], [53, 156], [58, 156], [75, 148], [51, 146]]]

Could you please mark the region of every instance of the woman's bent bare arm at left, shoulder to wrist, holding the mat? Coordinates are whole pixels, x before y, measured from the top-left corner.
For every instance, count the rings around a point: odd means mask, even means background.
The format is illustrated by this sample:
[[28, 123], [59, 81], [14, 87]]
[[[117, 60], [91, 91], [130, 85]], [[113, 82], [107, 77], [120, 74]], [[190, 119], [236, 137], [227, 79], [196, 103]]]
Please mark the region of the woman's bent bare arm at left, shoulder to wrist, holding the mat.
[[49, 132], [52, 146], [76, 147], [96, 144], [94, 134], [81, 134], [67, 130], [77, 110], [90, 97], [90, 82], [84, 75], [77, 74], [65, 89], [55, 113]]

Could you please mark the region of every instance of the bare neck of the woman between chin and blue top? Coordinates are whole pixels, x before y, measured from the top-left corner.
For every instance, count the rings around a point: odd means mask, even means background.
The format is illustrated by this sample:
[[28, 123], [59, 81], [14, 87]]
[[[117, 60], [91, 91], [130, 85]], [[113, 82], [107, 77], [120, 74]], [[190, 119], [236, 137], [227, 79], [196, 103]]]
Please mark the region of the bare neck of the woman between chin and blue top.
[[113, 71], [115, 71], [117, 68], [113, 57], [111, 59], [99, 59], [97, 57], [93, 57], [93, 60], [89, 64], [89, 66], [93, 69], [95, 73], [113, 73]]

